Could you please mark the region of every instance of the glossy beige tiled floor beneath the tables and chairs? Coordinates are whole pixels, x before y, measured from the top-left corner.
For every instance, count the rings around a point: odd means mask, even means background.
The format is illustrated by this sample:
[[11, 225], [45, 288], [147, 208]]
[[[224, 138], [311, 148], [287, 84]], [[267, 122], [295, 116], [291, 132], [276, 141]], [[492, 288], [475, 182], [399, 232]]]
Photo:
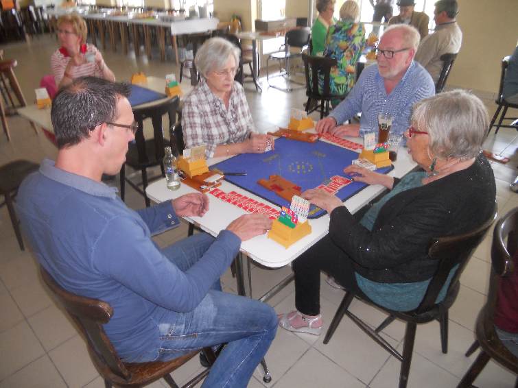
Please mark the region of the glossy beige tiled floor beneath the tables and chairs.
[[[16, 58], [16, 75], [27, 99], [34, 97], [34, 88], [40, 77], [49, 73], [49, 57], [56, 49], [56, 41], [43, 37], [30, 44], [3, 47], [5, 58]], [[137, 69], [148, 75], [163, 77], [174, 68], [171, 62], [136, 60], [131, 54], [106, 53], [106, 62], [119, 80], [128, 80]], [[252, 85], [248, 101], [259, 130], [285, 125], [290, 108], [302, 108], [303, 90], [283, 93], [264, 88], [257, 95]], [[495, 106], [487, 101], [491, 114]], [[0, 165], [15, 158], [39, 162], [44, 157], [54, 158], [56, 149], [41, 134], [37, 136], [27, 121], [20, 117], [8, 119], [12, 141], [0, 134]], [[503, 129], [498, 136], [491, 135], [486, 149], [512, 158], [507, 165], [494, 163], [497, 177], [499, 213], [518, 206], [518, 195], [508, 189], [517, 173], [515, 151], [518, 139], [514, 130]], [[455, 190], [454, 187], [451, 190]], [[143, 199], [128, 190], [130, 206], [143, 206]], [[167, 245], [185, 237], [187, 226], [172, 230], [156, 238]], [[475, 252], [461, 282], [460, 295], [450, 310], [449, 352], [440, 352], [438, 324], [419, 326], [412, 367], [410, 387], [455, 387], [475, 358], [464, 357], [473, 341], [475, 318], [484, 304], [488, 287], [489, 248], [491, 235]], [[289, 268], [270, 271], [254, 267], [252, 286], [254, 295], [261, 295], [271, 284], [290, 272]], [[227, 291], [235, 292], [235, 281], [229, 273], [223, 277]], [[342, 291], [331, 289], [322, 282], [322, 313], [329, 323], [342, 299]], [[293, 285], [272, 300], [276, 311], [288, 311], [294, 306]], [[370, 324], [378, 324], [383, 315], [362, 302], [355, 301], [353, 310]], [[102, 379], [93, 367], [84, 342], [76, 330], [43, 288], [30, 252], [19, 250], [5, 207], [0, 209], [0, 387], [103, 387]], [[404, 327], [395, 322], [386, 330], [386, 339], [401, 346]], [[344, 319], [333, 340], [323, 345], [322, 337], [295, 335], [279, 330], [266, 357], [273, 380], [267, 387], [395, 387], [399, 376], [399, 362], [381, 350], [348, 319]], [[197, 359], [190, 361], [174, 374], [178, 383], [187, 381], [200, 369]], [[506, 369], [490, 363], [475, 382], [478, 387], [513, 387], [515, 376]], [[156, 382], [152, 387], [165, 387]], [[261, 374], [256, 371], [249, 387], [263, 387]]]

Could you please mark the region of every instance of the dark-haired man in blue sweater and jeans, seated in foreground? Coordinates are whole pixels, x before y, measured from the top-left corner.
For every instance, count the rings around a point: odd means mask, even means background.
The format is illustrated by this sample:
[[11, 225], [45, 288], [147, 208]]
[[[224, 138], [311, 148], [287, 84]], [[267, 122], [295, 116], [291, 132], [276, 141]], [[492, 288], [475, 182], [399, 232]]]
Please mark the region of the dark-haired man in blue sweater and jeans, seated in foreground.
[[193, 193], [135, 212], [101, 182], [103, 173], [119, 172], [134, 139], [129, 93], [94, 77], [60, 90], [51, 110], [58, 158], [44, 160], [21, 185], [22, 226], [64, 289], [113, 307], [104, 329], [123, 361], [167, 361], [228, 343], [204, 387], [246, 387], [277, 319], [266, 304], [223, 293], [219, 278], [241, 242], [270, 221], [244, 215], [216, 239], [200, 233], [158, 248], [153, 234], [178, 226], [178, 217], [201, 217], [209, 201]]

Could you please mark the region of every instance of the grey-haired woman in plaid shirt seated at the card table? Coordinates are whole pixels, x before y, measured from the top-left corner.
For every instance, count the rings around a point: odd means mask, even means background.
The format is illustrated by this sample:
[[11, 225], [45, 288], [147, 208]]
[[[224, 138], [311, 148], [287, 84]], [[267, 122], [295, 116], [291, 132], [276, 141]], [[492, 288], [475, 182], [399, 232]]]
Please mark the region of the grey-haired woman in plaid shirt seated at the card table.
[[273, 148], [272, 136], [254, 132], [243, 86], [234, 80], [239, 49], [224, 38], [211, 38], [198, 49], [194, 63], [202, 80], [183, 104], [185, 147], [206, 145], [207, 158]]

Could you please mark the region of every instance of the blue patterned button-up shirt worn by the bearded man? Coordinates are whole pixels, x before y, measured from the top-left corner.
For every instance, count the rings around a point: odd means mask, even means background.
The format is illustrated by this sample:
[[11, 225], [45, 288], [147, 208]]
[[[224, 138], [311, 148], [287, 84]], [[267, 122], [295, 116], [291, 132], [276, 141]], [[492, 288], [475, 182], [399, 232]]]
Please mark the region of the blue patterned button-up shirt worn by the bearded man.
[[432, 77], [421, 64], [412, 61], [399, 84], [387, 95], [384, 79], [373, 64], [362, 71], [353, 90], [329, 116], [340, 125], [362, 112], [360, 136], [363, 136], [365, 132], [377, 131], [378, 113], [388, 113], [393, 117], [390, 133], [403, 134], [410, 125], [412, 106], [434, 94]]

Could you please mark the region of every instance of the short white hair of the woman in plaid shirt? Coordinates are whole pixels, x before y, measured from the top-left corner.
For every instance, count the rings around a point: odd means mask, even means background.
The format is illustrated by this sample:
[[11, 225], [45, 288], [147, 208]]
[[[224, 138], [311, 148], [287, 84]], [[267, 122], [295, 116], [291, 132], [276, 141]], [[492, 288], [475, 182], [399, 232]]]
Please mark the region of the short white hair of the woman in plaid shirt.
[[207, 78], [210, 71], [223, 69], [229, 56], [233, 56], [237, 67], [240, 53], [239, 48], [230, 41], [224, 38], [210, 38], [198, 49], [194, 64], [201, 75]]

